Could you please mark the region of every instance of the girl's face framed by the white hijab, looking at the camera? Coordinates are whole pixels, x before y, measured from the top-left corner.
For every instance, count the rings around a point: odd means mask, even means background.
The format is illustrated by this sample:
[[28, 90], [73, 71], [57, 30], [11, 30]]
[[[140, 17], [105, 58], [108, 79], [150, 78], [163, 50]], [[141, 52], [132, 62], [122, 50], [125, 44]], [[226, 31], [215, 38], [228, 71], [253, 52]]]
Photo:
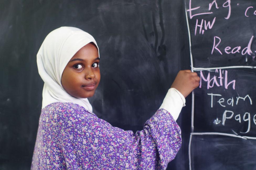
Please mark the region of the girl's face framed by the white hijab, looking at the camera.
[[73, 97], [92, 97], [100, 82], [99, 55], [97, 47], [89, 43], [82, 47], [65, 67], [61, 83]]

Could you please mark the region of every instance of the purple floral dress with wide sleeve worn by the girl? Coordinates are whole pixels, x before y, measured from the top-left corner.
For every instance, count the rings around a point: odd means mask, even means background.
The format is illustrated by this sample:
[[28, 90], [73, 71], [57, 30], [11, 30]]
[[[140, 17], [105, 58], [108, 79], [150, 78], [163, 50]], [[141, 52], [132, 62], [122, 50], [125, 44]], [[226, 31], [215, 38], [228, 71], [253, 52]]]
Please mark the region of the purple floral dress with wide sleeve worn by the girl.
[[57, 102], [42, 109], [31, 169], [166, 169], [180, 145], [180, 128], [164, 109], [134, 134]]

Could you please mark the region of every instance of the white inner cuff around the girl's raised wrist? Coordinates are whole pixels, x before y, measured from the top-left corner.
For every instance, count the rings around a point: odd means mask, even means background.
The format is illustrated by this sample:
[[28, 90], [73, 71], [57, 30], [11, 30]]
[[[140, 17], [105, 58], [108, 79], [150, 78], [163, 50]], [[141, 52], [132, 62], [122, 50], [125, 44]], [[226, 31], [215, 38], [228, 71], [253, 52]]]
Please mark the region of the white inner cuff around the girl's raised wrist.
[[186, 100], [184, 96], [177, 89], [170, 88], [159, 109], [167, 110], [176, 121], [185, 103]]

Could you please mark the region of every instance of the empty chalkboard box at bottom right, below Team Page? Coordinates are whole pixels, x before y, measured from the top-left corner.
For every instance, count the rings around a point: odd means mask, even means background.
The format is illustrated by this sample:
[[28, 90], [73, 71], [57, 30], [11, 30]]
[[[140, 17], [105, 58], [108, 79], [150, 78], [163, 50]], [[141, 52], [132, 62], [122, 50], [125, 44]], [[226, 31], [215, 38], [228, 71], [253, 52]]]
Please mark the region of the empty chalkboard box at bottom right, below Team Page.
[[[193, 135], [192, 169], [255, 169], [256, 140], [226, 135]], [[206, 156], [207, 153], [207, 156]]]

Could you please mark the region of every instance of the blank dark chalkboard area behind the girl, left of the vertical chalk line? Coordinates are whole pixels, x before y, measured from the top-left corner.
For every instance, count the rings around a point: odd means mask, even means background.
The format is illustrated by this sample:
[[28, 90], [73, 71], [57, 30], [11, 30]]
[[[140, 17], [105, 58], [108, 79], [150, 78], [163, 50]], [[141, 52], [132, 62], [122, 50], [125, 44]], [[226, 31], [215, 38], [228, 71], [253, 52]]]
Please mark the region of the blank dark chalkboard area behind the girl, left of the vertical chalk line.
[[[101, 82], [90, 98], [113, 126], [141, 130], [179, 70], [190, 69], [183, 1], [0, 1], [0, 169], [30, 169], [42, 87], [36, 54], [61, 26], [90, 33], [100, 49]], [[189, 169], [191, 96], [178, 118], [183, 143], [167, 169]]]

